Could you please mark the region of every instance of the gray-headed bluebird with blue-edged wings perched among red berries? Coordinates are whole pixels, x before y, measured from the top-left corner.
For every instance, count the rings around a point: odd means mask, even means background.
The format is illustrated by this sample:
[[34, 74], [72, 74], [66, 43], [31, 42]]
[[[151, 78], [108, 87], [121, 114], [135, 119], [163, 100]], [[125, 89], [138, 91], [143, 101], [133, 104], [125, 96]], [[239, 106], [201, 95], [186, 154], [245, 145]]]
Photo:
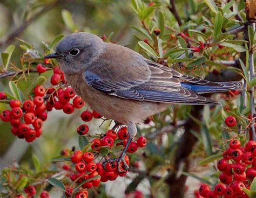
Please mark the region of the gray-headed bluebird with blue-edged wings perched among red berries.
[[95, 34], [65, 36], [55, 52], [66, 81], [90, 107], [108, 119], [127, 125], [129, 139], [122, 154], [109, 161], [129, 168], [124, 157], [136, 136], [136, 124], [170, 104], [219, 104], [200, 94], [241, 89], [242, 82], [211, 82], [154, 62], [130, 48], [105, 43]]

